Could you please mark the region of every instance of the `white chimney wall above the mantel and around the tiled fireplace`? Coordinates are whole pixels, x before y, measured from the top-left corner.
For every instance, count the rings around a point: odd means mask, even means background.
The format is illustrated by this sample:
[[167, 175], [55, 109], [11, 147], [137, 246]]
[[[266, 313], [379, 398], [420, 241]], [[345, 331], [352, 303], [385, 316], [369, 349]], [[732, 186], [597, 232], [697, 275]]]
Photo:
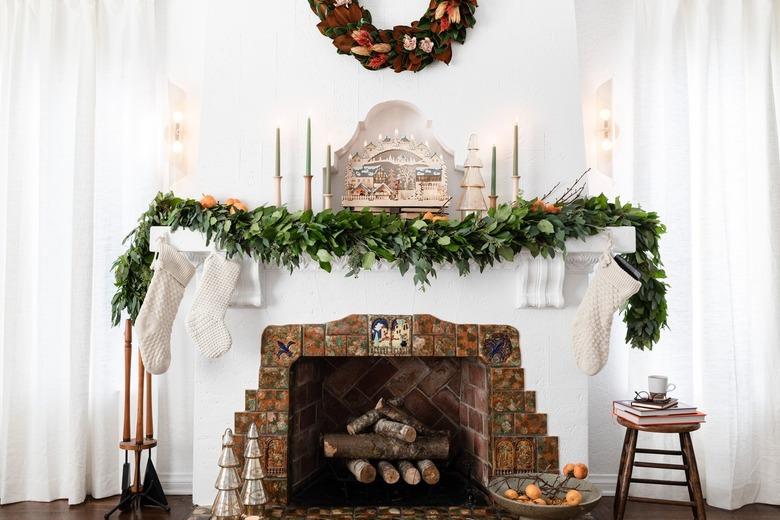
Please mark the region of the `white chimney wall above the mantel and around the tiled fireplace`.
[[[425, 3], [366, 0], [365, 5], [378, 25], [390, 26], [418, 16]], [[465, 155], [469, 133], [481, 135], [486, 163], [486, 145], [495, 138], [499, 195], [504, 200], [511, 189], [515, 117], [520, 120], [521, 174], [527, 194], [546, 191], [559, 180], [565, 183], [585, 168], [578, 67], [582, 55], [572, 2], [483, 2], [477, 27], [469, 32], [465, 46], [456, 47], [452, 64], [419, 74], [371, 73], [337, 55], [315, 28], [316, 17], [304, 0], [169, 0], [161, 9], [168, 21], [171, 80], [188, 95], [190, 175], [177, 187], [182, 194], [210, 192], [220, 198], [238, 197], [252, 206], [272, 200], [273, 128], [278, 123], [283, 133], [284, 200], [290, 207], [300, 207], [306, 115], [313, 119], [316, 174], [326, 141], [334, 148], [341, 146], [357, 121], [374, 104], [388, 99], [420, 107], [434, 120], [442, 141], [456, 151], [458, 162]], [[321, 192], [320, 183], [315, 177], [314, 193]], [[474, 292], [477, 286], [484, 288], [486, 279], [480, 277], [464, 281], [445, 275], [421, 294], [395, 273], [371, 278], [371, 283], [367, 277], [343, 282], [338, 275], [310, 273], [309, 283], [293, 285], [283, 283], [283, 274], [272, 276], [277, 278], [277, 290], [270, 295], [270, 307], [228, 312], [234, 347], [224, 358], [209, 362], [197, 356], [181, 321], [174, 328], [173, 363], [160, 378], [161, 413], [169, 415], [160, 421], [158, 469], [164, 479], [178, 480], [178, 487], [186, 491], [194, 457], [196, 502], [210, 500], [219, 431], [232, 424], [232, 412], [242, 407], [244, 388], [256, 383], [262, 328], [284, 321], [324, 321], [348, 312], [430, 312], [451, 321], [517, 326], [528, 385], [540, 391], [540, 408], [551, 412], [551, 433], [567, 439], [564, 454], [587, 456], [583, 442], [588, 433], [570, 422], [587, 411], [582, 401], [587, 382], [571, 370], [567, 328], [561, 327], [572, 308], [561, 313], [516, 311], [504, 291], [497, 289], [495, 298]], [[337, 289], [336, 281], [348, 285]], [[493, 278], [489, 283], [488, 287], [499, 288], [503, 282]], [[584, 279], [569, 283], [574, 284], [567, 286], [570, 292], [584, 289]], [[192, 288], [182, 314], [189, 308], [191, 293]], [[480, 294], [478, 299], [475, 294]], [[569, 385], [579, 389], [577, 395], [570, 396]], [[193, 402], [193, 392], [202, 399]], [[591, 401], [591, 407], [600, 411], [599, 420], [608, 405], [606, 394], [602, 392], [598, 403]], [[550, 409], [555, 395], [570, 399], [566, 413], [573, 416], [556, 415], [558, 406]], [[212, 415], [214, 410], [219, 413]], [[583, 420], [587, 424], [587, 413]], [[565, 428], [562, 421], [567, 421]], [[616, 452], [612, 436], [594, 443], [592, 454]]]

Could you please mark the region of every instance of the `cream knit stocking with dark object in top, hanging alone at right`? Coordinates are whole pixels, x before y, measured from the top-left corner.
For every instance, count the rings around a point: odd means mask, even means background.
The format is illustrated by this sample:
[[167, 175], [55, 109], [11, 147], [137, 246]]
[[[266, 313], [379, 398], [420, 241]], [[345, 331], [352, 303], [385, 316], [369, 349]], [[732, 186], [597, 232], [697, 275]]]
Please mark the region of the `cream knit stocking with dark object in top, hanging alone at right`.
[[604, 256], [574, 318], [574, 358], [580, 370], [592, 376], [607, 364], [615, 311], [641, 286], [611, 256]]

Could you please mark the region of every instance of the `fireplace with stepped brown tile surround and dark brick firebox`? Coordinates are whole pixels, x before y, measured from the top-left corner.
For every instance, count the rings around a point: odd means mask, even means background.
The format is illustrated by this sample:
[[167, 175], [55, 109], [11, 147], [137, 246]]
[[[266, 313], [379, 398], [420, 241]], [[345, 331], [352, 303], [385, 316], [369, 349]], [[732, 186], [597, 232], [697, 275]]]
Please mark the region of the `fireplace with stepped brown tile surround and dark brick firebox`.
[[[258, 379], [235, 414], [236, 453], [254, 422], [274, 504], [479, 505], [494, 475], [558, 470], [558, 438], [547, 435], [547, 416], [526, 389], [520, 335], [507, 325], [351, 315], [268, 326]], [[438, 484], [361, 484], [342, 461], [324, 456], [323, 435], [345, 432], [382, 398], [449, 432], [450, 456], [436, 461]]]

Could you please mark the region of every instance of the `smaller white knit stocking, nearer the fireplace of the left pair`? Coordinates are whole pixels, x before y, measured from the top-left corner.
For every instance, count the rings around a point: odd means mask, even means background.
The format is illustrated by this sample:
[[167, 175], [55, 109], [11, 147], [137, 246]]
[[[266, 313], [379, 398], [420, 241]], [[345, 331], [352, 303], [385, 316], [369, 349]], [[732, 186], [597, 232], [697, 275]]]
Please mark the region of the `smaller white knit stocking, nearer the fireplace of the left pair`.
[[224, 318], [240, 270], [237, 262], [216, 253], [203, 263], [203, 277], [187, 315], [187, 332], [208, 358], [221, 356], [233, 343]]

